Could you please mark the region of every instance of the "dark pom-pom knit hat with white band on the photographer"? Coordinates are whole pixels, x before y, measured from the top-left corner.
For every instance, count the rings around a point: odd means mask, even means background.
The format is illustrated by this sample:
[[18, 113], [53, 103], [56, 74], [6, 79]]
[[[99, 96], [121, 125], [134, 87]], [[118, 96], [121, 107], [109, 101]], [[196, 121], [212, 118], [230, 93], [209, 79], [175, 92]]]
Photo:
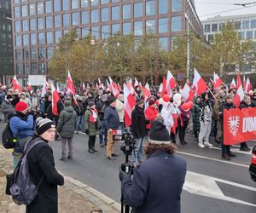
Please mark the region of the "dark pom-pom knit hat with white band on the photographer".
[[168, 130], [166, 129], [166, 125], [162, 122], [164, 119], [155, 120], [151, 124], [150, 132], [149, 132], [149, 143], [153, 144], [169, 144], [170, 135]]

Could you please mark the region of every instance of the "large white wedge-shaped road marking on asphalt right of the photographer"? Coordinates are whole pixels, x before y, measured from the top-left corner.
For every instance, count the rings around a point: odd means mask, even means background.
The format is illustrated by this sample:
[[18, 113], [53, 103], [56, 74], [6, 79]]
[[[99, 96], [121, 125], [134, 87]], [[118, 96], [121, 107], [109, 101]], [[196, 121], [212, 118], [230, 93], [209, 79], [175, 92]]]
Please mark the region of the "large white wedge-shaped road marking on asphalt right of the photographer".
[[240, 199], [234, 199], [228, 196], [225, 196], [221, 189], [218, 187], [216, 181], [223, 182], [235, 187], [241, 187], [247, 190], [256, 192], [256, 188], [242, 185], [232, 181], [225, 181], [219, 178], [214, 178], [211, 176], [204, 176], [195, 172], [188, 171], [186, 175], [186, 180], [183, 185], [183, 189], [189, 193], [194, 193], [197, 195], [213, 198], [213, 199], [222, 199], [238, 204], [247, 204], [253, 207], [256, 207], [256, 204], [251, 204]]

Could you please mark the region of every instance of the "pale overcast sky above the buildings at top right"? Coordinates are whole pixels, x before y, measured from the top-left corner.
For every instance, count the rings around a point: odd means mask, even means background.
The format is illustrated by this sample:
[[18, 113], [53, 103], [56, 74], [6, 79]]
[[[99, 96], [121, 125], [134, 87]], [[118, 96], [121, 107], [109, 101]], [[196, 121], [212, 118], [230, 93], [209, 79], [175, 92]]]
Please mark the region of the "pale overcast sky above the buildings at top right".
[[[245, 8], [243, 6], [236, 6], [235, 3], [253, 3], [248, 4]], [[196, 12], [201, 20], [206, 20], [220, 14], [234, 15], [234, 14], [256, 14], [255, 0], [195, 0]], [[232, 11], [227, 11], [232, 10]]]

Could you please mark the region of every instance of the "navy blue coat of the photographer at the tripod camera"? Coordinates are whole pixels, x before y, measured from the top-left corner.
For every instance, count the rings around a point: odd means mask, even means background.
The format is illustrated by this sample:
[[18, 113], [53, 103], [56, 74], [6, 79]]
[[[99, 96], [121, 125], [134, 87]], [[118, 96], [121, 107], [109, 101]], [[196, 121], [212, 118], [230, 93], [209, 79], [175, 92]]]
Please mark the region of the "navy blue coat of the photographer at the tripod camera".
[[156, 151], [125, 176], [122, 194], [134, 213], [180, 213], [180, 195], [186, 176], [186, 162], [176, 154]]

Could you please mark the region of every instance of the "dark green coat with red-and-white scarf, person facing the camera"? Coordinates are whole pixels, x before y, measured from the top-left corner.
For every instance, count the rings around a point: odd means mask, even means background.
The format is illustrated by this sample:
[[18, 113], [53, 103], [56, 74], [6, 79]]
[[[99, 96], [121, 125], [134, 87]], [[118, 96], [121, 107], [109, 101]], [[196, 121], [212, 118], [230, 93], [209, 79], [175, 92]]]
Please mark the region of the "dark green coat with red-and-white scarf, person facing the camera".
[[93, 112], [88, 107], [85, 116], [84, 116], [84, 124], [85, 124], [85, 130], [89, 130], [89, 136], [98, 135], [98, 113], [95, 110], [96, 118], [93, 118]]

